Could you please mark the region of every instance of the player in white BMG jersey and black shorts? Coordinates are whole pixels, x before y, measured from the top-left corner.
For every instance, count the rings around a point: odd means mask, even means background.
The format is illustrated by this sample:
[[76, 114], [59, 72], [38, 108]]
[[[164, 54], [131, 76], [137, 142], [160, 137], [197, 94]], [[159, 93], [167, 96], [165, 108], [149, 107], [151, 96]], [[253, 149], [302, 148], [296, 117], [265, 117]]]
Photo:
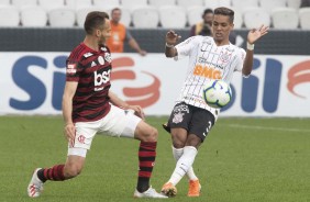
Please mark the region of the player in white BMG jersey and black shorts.
[[176, 195], [176, 186], [185, 175], [189, 179], [188, 197], [200, 195], [201, 184], [192, 164], [199, 146], [219, 115], [219, 110], [207, 105], [202, 99], [204, 83], [210, 79], [222, 79], [230, 83], [234, 71], [250, 76], [254, 43], [268, 32], [264, 25], [251, 30], [245, 52], [229, 41], [234, 26], [233, 19], [234, 11], [218, 8], [212, 22], [213, 37], [192, 36], [176, 45], [180, 36], [174, 31], [166, 34], [166, 56], [176, 60], [189, 57], [188, 75], [166, 126], [171, 134], [173, 154], [177, 161], [170, 179], [162, 188], [162, 192], [168, 197]]

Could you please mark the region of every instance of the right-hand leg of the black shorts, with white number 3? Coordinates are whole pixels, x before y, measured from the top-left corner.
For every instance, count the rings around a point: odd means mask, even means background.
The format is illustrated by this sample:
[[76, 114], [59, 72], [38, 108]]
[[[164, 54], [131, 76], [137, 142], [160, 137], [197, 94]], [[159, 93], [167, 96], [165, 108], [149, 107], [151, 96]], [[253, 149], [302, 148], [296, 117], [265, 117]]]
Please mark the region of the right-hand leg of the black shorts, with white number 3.
[[197, 135], [203, 142], [214, 123], [215, 119], [211, 112], [197, 108], [192, 113], [188, 133]]

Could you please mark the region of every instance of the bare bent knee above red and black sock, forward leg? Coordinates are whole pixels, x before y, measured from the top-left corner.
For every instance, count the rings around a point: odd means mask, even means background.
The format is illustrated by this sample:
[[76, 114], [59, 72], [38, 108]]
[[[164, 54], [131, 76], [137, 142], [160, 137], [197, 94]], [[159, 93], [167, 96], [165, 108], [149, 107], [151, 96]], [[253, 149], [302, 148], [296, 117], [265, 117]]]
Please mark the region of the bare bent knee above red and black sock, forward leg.
[[151, 126], [144, 121], [139, 122], [134, 132], [134, 138], [143, 142], [156, 142], [157, 136], [158, 132], [155, 127]]

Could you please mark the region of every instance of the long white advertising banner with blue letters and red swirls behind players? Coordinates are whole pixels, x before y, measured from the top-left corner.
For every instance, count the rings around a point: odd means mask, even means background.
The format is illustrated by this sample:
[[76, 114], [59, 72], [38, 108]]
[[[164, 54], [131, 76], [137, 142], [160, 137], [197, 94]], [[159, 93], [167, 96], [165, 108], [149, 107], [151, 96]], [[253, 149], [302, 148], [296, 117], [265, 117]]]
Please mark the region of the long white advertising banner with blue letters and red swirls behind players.
[[[69, 53], [0, 53], [0, 114], [60, 114]], [[147, 115], [168, 115], [187, 74], [187, 59], [164, 54], [113, 54], [111, 90]], [[310, 58], [256, 55], [247, 79], [235, 72], [222, 116], [310, 117]]]

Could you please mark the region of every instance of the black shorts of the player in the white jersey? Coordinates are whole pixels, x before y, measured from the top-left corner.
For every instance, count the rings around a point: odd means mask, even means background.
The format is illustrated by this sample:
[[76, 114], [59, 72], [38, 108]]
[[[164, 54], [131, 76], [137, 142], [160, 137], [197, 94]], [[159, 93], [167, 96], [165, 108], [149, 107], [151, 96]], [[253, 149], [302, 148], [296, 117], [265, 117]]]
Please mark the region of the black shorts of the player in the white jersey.
[[170, 114], [168, 127], [185, 128], [188, 134], [195, 134], [203, 142], [214, 121], [214, 115], [208, 110], [180, 102], [175, 105]]

